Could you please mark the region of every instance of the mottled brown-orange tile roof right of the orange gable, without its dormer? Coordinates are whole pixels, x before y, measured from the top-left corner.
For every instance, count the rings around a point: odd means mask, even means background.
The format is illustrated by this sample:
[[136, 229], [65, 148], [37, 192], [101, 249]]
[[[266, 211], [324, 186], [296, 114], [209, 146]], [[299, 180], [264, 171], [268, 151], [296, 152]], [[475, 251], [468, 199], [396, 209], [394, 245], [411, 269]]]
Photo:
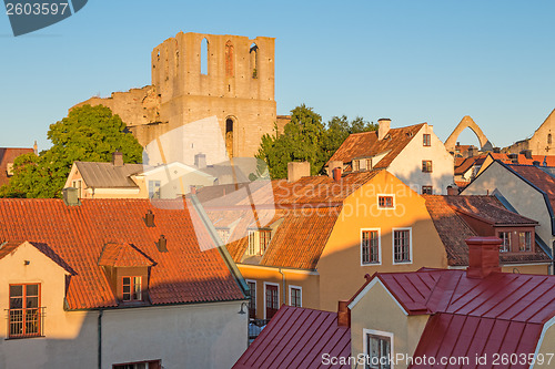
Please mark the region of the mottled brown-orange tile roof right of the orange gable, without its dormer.
[[[468, 246], [465, 239], [478, 234], [460, 216], [475, 214], [480, 219], [501, 225], [536, 225], [537, 222], [512, 213], [504, 208], [495, 196], [442, 196], [422, 195], [426, 201], [426, 208], [432, 217], [435, 229], [445, 246], [447, 262], [451, 266], [468, 265]], [[535, 254], [518, 255], [514, 253], [502, 253], [500, 259], [504, 264], [509, 263], [545, 263], [549, 257], [541, 247], [536, 247]]]

